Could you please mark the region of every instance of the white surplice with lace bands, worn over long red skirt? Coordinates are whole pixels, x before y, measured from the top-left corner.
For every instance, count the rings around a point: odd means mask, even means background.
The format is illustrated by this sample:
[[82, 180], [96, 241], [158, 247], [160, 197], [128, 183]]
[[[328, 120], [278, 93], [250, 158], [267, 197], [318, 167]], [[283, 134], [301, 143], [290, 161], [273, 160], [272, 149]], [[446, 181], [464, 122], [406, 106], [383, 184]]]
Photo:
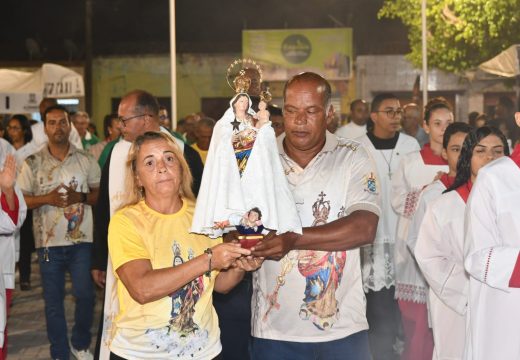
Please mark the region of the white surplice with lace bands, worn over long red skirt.
[[429, 164], [421, 155], [425, 151], [432, 156], [426, 144], [421, 152], [408, 154], [392, 177], [392, 207], [399, 214], [394, 254], [395, 297], [422, 304], [427, 300], [427, 284], [408, 249], [408, 231], [421, 191], [439, 171], [448, 172], [448, 165]]

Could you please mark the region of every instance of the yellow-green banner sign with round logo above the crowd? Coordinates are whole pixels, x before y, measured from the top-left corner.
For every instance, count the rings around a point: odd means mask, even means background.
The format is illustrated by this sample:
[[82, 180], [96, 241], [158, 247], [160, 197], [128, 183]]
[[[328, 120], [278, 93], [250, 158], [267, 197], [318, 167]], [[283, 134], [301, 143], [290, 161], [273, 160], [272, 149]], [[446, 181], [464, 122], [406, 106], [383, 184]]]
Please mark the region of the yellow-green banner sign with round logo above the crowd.
[[285, 81], [302, 71], [348, 80], [352, 55], [350, 28], [242, 31], [242, 57], [260, 64], [268, 81]]

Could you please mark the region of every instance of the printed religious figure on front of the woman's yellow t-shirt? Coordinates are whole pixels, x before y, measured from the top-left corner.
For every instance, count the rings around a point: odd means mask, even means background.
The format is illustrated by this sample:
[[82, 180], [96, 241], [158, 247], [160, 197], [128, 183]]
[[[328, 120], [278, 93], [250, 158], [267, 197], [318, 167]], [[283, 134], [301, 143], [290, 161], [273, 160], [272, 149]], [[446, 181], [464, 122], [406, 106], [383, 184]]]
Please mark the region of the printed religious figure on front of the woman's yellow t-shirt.
[[[189, 248], [188, 258], [185, 260], [177, 241], [174, 241], [172, 251], [173, 266], [179, 266], [194, 258], [193, 250]], [[178, 357], [193, 356], [207, 346], [208, 331], [199, 328], [193, 319], [195, 305], [203, 291], [203, 277], [199, 276], [170, 294], [170, 325], [160, 329], [148, 329], [145, 332], [153, 346]]]

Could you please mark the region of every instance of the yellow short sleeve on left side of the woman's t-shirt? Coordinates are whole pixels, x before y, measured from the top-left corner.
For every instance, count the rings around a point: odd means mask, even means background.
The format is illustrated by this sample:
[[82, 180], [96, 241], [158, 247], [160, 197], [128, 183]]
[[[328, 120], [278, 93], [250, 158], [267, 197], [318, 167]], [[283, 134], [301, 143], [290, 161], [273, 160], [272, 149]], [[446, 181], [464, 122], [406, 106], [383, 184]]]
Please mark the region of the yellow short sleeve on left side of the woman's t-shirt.
[[[117, 212], [110, 220], [108, 227], [108, 253], [114, 271], [121, 265], [137, 259], [151, 259], [142, 234], [124, 215], [124, 210]], [[115, 274], [117, 277], [117, 273]]]

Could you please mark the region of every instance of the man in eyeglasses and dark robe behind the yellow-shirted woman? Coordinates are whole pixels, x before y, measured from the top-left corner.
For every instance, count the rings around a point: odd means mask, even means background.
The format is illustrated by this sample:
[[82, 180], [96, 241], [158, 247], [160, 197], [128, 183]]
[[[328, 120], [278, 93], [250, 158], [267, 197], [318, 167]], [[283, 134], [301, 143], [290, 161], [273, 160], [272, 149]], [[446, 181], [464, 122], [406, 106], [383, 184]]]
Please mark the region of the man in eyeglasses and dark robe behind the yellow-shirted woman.
[[[111, 291], [114, 289], [114, 277], [111, 264], [108, 262], [108, 223], [110, 217], [120, 204], [124, 194], [125, 165], [128, 152], [132, 142], [139, 135], [147, 131], [161, 131], [171, 135], [171, 133], [161, 127], [159, 122], [159, 103], [157, 99], [144, 90], [134, 90], [126, 94], [119, 103], [118, 116], [121, 121], [122, 139], [114, 145], [107, 157], [105, 166], [101, 173], [100, 195], [96, 211], [96, 238], [93, 249], [92, 276], [95, 283], [105, 287], [106, 281], [106, 300], [105, 315], [102, 317], [98, 341], [96, 344], [96, 358], [108, 358], [109, 350], [107, 347], [100, 349], [99, 346], [106, 342], [101, 341], [103, 330], [103, 320], [112, 314], [113, 298]], [[192, 189], [195, 195], [199, 192], [200, 181], [202, 178], [202, 160], [199, 154], [189, 145], [175, 138], [177, 145], [183, 150], [184, 157], [188, 162], [193, 175]], [[107, 266], [108, 264], [108, 266]], [[108, 334], [103, 334], [108, 335]]]

